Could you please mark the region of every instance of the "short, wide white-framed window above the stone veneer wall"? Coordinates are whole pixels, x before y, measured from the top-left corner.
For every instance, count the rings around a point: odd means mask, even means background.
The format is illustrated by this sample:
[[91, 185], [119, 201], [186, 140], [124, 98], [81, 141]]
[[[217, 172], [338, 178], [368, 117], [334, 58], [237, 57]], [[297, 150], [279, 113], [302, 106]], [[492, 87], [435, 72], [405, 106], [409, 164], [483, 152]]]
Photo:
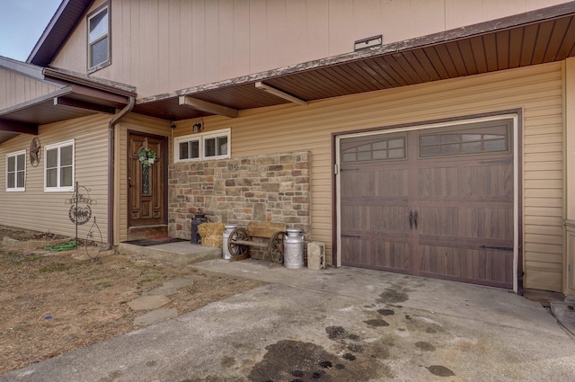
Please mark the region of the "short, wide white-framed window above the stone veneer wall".
[[230, 157], [230, 129], [175, 139], [175, 162]]

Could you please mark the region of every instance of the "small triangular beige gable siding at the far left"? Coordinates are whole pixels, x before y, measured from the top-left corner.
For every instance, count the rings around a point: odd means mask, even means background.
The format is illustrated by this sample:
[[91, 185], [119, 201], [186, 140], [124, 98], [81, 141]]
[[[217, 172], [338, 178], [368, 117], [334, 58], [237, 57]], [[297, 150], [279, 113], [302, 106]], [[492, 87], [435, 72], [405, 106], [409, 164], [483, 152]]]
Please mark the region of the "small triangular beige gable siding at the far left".
[[56, 90], [55, 86], [0, 68], [0, 110]]

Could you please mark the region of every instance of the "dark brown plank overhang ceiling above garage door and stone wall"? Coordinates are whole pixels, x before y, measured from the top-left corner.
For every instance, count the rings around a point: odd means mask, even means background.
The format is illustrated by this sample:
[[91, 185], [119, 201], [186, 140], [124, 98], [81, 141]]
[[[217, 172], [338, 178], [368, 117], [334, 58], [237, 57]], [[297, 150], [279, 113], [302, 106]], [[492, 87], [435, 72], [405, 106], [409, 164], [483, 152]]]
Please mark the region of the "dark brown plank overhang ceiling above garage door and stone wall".
[[221, 83], [140, 99], [134, 112], [165, 120], [212, 115], [181, 95], [242, 111], [289, 103], [263, 82], [306, 102], [528, 67], [575, 56], [575, 2], [324, 58]]

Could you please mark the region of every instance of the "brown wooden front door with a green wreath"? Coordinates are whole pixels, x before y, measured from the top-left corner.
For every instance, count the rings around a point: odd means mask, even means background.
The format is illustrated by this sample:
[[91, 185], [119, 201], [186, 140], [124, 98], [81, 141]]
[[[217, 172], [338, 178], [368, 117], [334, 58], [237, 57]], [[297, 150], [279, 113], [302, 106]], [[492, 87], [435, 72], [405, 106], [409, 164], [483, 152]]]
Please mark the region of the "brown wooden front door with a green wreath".
[[[138, 154], [145, 147], [156, 154], [146, 167]], [[128, 134], [128, 227], [166, 224], [167, 140], [164, 137]]]

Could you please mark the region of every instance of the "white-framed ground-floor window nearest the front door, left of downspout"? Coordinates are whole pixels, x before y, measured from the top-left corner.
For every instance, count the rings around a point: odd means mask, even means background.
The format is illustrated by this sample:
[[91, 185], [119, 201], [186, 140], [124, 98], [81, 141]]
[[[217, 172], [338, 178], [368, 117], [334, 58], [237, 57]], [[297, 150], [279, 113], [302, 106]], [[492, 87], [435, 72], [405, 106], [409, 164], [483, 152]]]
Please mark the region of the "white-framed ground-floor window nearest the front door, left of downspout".
[[74, 141], [44, 147], [44, 191], [71, 191], [74, 185]]

